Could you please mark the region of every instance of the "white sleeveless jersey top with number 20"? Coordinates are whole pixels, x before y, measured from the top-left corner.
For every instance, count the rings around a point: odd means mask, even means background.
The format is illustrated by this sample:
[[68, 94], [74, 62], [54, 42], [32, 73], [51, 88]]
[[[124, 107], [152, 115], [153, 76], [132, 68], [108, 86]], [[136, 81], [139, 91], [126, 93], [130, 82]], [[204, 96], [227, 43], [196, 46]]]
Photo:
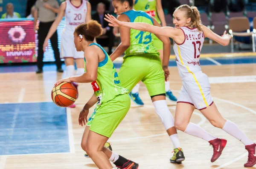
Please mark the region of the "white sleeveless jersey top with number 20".
[[65, 9], [65, 20], [66, 25], [63, 31], [63, 35], [72, 36], [75, 28], [82, 23], [85, 23], [87, 14], [87, 2], [86, 0], [81, 0], [81, 5], [76, 7], [70, 0], [66, 0]]

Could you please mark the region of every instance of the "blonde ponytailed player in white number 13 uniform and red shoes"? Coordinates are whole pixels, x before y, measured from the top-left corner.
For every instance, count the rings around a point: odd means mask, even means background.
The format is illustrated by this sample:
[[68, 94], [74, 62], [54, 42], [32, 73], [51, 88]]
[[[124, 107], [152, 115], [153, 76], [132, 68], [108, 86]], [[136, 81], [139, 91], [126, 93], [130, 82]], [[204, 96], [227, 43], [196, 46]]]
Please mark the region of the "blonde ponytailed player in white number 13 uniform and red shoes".
[[[175, 41], [174, 51], [177, 68], [182, 80], [182, 88], [175, 111], [175, 127], [189, 135], [208, 141], [213, 147], [211, 162], [216, 161], [226, 146], [227, 140], [216, 138], [197, 124], [189, 122], [196, 108], [213, 126], [224, 130], [241, 141], [249, 153], [248, 161], [244, 166], [254, 166], [256, 164], [256, 144], [247, 138], [236, 124], [221, 116], [210, 95], [209, 79], [206, 74], [202, 73], [199, 62], [205, 37], [226, 46], [229, 44], [231, 36], [226, 34], [226, 31], [222, 36], [219, 36], [202, 25], [198, 8], [195, 6], [179, 6], [176, 8], [173, 17], [175, 28], [160, 28], [147, 23], [120, 22], [112, 15], [106, 16], [108, 19], [105, 18], [105, 20], [110, 23], [110, 26], [125, 26], [172, 38]], [[168, 63], [169, 59], [163, 60], [163, 70], [166, 75], [169, 75]]]

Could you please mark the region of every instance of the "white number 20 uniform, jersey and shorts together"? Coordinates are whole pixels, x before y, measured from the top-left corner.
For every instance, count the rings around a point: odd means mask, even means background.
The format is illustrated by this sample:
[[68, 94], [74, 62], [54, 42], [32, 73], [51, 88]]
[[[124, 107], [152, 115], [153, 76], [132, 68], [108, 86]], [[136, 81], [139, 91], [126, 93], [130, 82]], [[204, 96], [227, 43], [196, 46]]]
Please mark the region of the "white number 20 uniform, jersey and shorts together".
[[73, 6], [70, 0], [66, 0], [66, 25], [61, 36], [61, 57], [73, 57], [74, 59], [84, 58], [83, 51], [76, 51], [73, 33], [78, 25], [85, 23], [86, 13], [86, 0], [82, 0], [79, 7]]

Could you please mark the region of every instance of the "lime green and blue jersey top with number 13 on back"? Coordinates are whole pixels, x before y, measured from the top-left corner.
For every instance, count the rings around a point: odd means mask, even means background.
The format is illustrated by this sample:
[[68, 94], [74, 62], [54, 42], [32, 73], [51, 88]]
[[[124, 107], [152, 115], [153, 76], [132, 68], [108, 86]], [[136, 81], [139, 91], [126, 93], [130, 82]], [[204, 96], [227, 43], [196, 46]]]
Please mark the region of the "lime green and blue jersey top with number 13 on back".
[[[126, 11], [122, 14], [125, 14], [129, 17], [130, 22], [136, 23], [148, 23], [153, 24], [153, 20], [143, 11]], [[134, 55], [157, 55], [159, 52], [153, 45], [153, 38], [150, 32], [138, 31], [135, 29], [130, 29], [130, 47], [125, 51], [125, 56], [134, 56]]]

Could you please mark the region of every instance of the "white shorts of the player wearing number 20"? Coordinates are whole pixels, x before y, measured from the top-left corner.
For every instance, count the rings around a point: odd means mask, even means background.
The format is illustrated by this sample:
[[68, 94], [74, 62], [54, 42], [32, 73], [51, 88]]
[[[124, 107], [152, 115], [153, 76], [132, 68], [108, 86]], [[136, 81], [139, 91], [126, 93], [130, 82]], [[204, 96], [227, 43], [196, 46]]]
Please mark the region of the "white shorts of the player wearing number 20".
[[62, 35], [61, 36], [61, 58], [72, 57], [74, 59], [83, 59], [84, 52], [76, 51], [76, 47], [74, 44], [74, 37], [70, 35]]

